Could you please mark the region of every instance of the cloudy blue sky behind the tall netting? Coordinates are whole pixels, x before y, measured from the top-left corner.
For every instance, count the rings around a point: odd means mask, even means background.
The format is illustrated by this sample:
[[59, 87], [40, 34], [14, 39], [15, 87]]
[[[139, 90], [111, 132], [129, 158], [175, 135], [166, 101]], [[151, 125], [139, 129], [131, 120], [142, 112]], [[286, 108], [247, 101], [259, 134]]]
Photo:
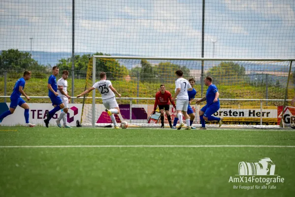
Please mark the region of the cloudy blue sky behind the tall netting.
[[[0, 50], [71, 52], [72, 0], [1, 0]], [[204, 57], [294, 58], [294, 0], [205, 0]], [[201, 57], [201, 0], [75, 0], [75, 51]]]

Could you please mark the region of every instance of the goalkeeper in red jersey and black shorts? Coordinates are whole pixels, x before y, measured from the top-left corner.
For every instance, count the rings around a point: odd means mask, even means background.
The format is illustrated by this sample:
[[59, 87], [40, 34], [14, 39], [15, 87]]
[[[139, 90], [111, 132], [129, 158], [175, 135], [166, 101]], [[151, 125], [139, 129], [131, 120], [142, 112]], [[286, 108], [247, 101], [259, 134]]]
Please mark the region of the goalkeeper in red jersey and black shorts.
[[173, 107], [176, 109], [175, 102], [171, 100], [171, 93], [169, 91], [166, 91], [165, 85], [160, 85], [160, 91], [156, 94], [155, 99], [155, 105], [154, 105], [154, 111], [153, 114], [156, 113], [157, 105], [159, 105], [160, 113], [161, 113], [161, 128], [164, 129], [164, 109], [167, 115], [167, 119], [170, 125], [170, 128], [172, 128], [172, 121], [169, 114], [169, 108], [170, 108], [170, 101]]

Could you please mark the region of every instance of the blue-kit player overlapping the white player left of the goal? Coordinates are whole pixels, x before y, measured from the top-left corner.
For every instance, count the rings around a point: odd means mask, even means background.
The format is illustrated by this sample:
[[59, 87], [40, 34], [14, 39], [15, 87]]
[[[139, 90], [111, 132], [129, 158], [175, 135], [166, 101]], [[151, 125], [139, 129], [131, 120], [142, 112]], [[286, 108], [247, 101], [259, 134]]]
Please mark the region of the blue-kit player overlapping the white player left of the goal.
[[56, 76], [59, 74], [59, 71], [60, 69], [58, 66], [53, 66], [52, 75], [50, 75], [48, 79], [48, 84], [47, 84], [47, 88], [49, 90], [48, 96], [54, 108], [53, 110], [46, 113], [47, 119], [44, 120], [46, 127], [48, 127], [49, 121], [54, 116], [54, 114], [65, 107], [63, 100], [59, 97], [59, 94], [57, 93], [57, 90], [63, 90], [62, 87], [61, 88], [57, 87]]

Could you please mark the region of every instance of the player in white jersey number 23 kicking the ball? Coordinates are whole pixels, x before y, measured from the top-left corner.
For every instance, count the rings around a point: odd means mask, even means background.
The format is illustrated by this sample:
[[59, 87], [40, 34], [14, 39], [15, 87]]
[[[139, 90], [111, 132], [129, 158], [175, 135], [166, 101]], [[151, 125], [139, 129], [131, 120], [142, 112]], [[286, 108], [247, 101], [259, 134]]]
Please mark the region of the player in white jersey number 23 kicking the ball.
[[101, 94], [102, 104], [106, 108], [105, 111], [111, 117], [114, 128], [119, 129], [114, 116], [114, 114], [120, 113], [119, 105], [115, 99], [115, 94], [118, 95], [119, 98], [121, 98], [121, 95], [112, 86], [112, 83], [109, 80], [106, 80], [105, 72], [100, 72], [99, 77], [100, 81], [96, 82], [91, 88], [78, 95], [77, 98], [90, 93], [94, 89], [98, 89], [98, 92]]

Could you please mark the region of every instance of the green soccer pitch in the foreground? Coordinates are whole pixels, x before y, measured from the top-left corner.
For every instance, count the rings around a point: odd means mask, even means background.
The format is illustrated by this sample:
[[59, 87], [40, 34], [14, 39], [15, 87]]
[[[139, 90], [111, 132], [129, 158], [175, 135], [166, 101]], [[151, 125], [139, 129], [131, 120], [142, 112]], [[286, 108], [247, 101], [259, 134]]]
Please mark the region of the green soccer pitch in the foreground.
[[[229, 181], [260, 158], [284, 182]], [[286, 197], [294, 169], [293, 130], [0, 127], [1, 197]]]

